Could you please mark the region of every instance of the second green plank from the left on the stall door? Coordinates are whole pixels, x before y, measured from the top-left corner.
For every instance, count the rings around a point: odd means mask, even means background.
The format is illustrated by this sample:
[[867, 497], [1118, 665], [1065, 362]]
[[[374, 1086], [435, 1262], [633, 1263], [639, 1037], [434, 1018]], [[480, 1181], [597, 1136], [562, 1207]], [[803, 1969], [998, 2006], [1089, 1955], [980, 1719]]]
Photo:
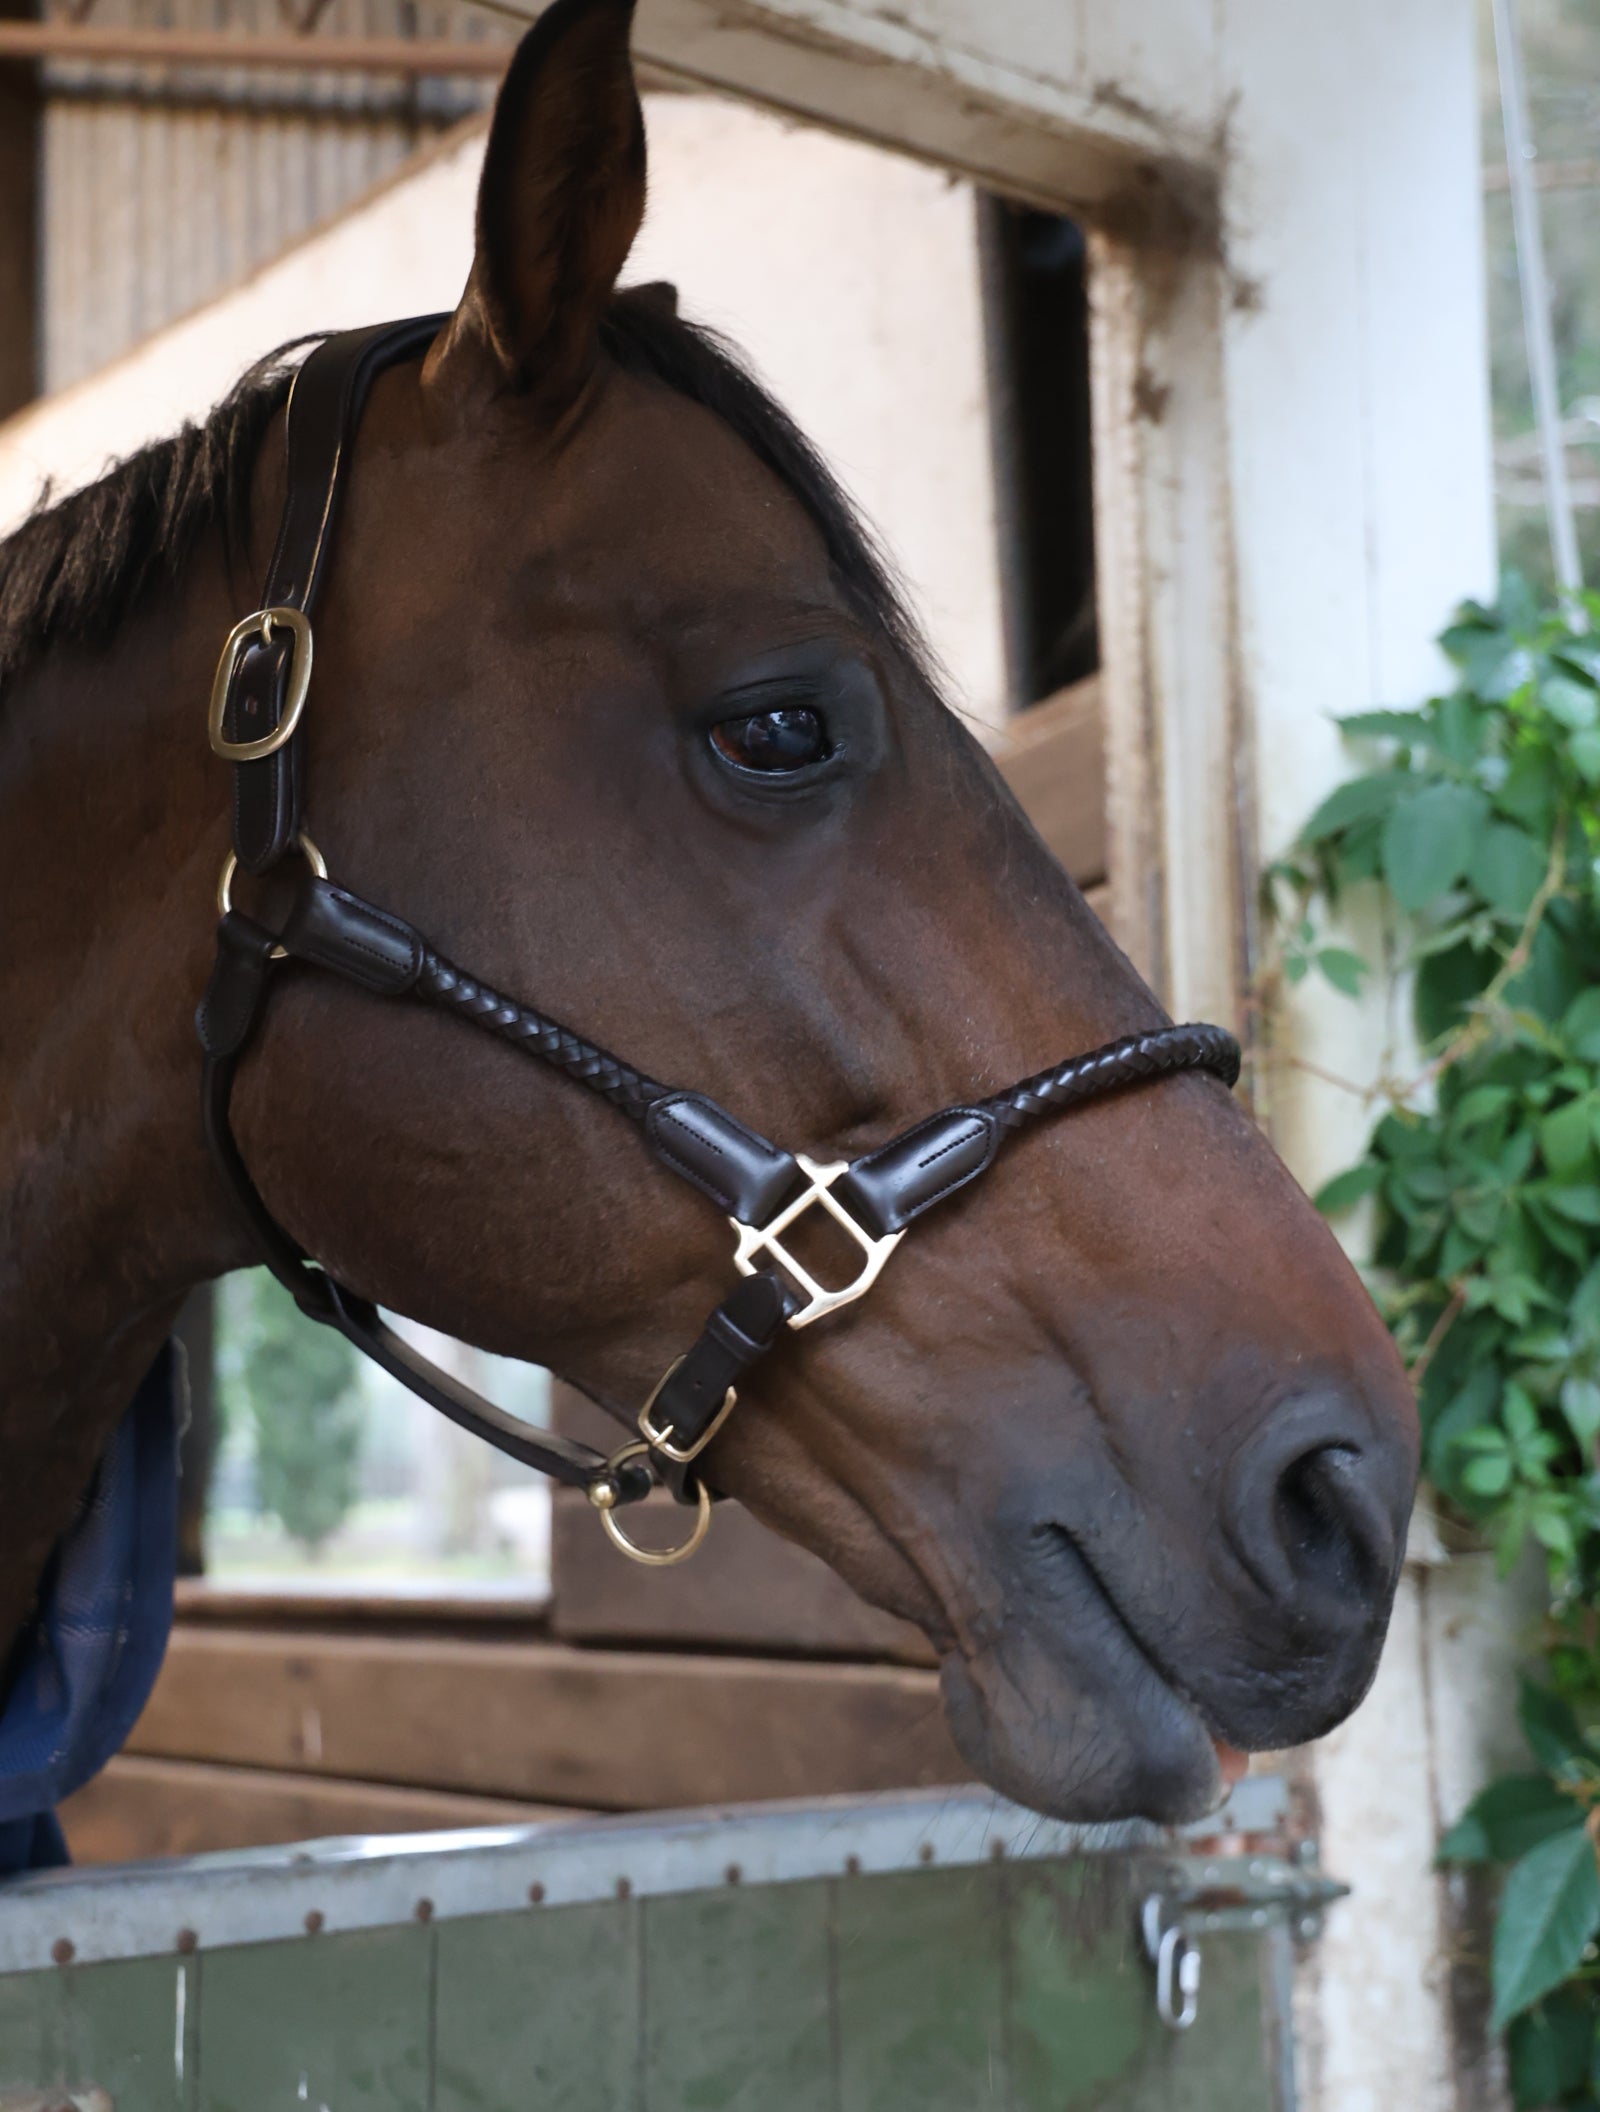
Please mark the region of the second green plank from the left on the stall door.
[[431, 1977], [416, 1924], [207, 1954], [205, 2112], [426, 2112]]

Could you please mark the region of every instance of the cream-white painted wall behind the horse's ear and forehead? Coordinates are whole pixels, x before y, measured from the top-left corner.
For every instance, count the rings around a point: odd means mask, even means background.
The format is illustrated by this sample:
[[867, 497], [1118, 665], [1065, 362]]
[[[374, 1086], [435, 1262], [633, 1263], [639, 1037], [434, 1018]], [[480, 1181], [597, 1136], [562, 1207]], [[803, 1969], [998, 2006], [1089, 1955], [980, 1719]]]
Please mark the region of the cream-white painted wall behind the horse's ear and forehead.
[[[897, 553], [958, 699], [998, 722], [971, 188], [745, 103], [648, 106], [650, 211], [627, 277], [671, 279], [686, 315], [747, 351]], [[0, 425], [0, 532], [46, 477], [87, 482], [201, 416], [287, 338], [454, 306], [481, 154], [481, 129], [462, 127], [243, 285]]]

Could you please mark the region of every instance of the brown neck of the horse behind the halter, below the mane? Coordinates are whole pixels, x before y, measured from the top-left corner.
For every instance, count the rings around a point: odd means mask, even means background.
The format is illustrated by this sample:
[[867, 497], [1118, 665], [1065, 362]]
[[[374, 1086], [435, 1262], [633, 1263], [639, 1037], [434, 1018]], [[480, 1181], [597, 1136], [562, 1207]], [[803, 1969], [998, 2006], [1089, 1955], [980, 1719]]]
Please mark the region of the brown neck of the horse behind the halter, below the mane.
[[232, 1261], [190, 1026], [220, 581], [160, 600], [0, 703], [0, 1664], [184, 1293]]

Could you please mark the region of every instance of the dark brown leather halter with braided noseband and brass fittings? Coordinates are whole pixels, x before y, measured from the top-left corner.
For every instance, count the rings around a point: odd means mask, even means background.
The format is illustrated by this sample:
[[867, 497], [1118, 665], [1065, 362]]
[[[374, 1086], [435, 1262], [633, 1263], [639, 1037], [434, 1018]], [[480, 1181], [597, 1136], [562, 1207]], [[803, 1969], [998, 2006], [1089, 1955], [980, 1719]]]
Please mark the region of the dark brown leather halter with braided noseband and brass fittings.
[[[523, 1466], [585, 1489], [610, 1538], [635, 1561], [673, 1563], [694, 1552], [711, 1516], [711, 1489], [692, 1466], [732, 1413], [743, 1379], [787, 1331], [863, 1297], [906, 1229], [986, 1172], [1005, 1140], [1030, 1121], [1176, 1071], [1209, 1071], [1233, 1086], [1239, 1045], [1220, 1026], [1127, 1035], [1009, 1092], [946, 1107], [865, 1157], [823, 1164], [783, 1151], [705, 1094], [663, 1086], [532, 1005], [492, 991], [435, 953], [405, 919], [336, 887], [302, 826], [306, 754], [300, 727], [312, 667], [310, 617], [367, 389], [384, 367], [418, 357], [443, 321], [431, 315], [325, 338], [289, 393], [289, 482], [266, 591], [262, 606], [228, 634], [211, 691], [211, 748], [234, 767], [234, 803], [232, 851], [217, 887], [217, 957], [196, 1014], [205, 1050], [205, 1130], [262, 1259], [304, 1314], [336, 1326], [464, 1430]], [[262, 874], [289, 853], [300, 853], [300, 881], [281, 929], [232, 908], [239, 868]], [[234, 1069], [262, 1020], [277, 961], [342, 976], [376, 997], [450, 1012], [564, 1071], [635, 1121], [661, 1164], [730, 1219], [739, 1280], [699, 1341], [650, 1394], [637, 1417], [637, 1438], [606, 1457], [507, 1415], [420, 1358], [369, 1299], [312, 1263], [277, 1223], [228, 1119]], [[823, 1210], [855, 1244], [851, 1282], [823, 1286], [785, 1244], [811, 1210]], [[665, 1552], [637, 1548], [616, 1521], [623, 1506], [646, 1497], [656, 1483], [697, 1510], [690, 1538]]]

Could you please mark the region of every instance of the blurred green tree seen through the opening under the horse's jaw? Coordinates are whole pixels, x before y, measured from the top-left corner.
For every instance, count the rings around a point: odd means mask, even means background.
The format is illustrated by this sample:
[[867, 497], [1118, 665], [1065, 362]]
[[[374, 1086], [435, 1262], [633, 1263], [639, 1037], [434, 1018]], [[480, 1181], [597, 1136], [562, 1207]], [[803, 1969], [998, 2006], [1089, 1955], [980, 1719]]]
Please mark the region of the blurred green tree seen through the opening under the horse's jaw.
[[357, 1354], [342, 1335], [304, 1320], [266, 1269], [228, 1288], [228, 1417], [253, 1430], [260, 1508], [315, 1554], [359, 1491]]

